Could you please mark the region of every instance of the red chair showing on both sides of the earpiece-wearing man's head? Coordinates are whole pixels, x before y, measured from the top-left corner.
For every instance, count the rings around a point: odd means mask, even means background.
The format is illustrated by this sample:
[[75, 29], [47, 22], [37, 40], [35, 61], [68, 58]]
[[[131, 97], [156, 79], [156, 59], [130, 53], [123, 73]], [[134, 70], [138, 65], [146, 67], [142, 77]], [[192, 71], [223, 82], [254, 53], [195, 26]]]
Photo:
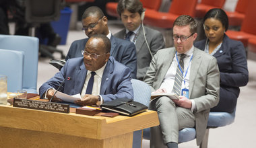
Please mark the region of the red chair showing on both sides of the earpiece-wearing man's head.
[[[160, 5], [162, 3], [162, 0], [140, 0], [143, 7], [146, 9], [154, 9], [158, 11], [160, 8]], [[109, 2], [106, 3], [106, 13], [110, 16], [119, 17], [119, 14], [117, 13], [117, 2]]]

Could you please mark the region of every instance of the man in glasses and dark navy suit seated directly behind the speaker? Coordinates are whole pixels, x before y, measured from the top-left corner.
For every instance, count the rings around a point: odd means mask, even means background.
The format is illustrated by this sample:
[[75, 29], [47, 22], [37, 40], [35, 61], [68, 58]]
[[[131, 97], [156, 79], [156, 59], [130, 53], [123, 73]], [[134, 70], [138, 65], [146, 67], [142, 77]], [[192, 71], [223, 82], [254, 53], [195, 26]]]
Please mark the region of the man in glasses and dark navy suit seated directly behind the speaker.
[[[88, 7], [82, 15], [82, 30], [89, 38], [94, 34], [104, 34], [110, 39], [111, 50], [110, 56], [114, 57], [116, 61], [126, 65], [131, 69], [131, 77], [136, 78], [137, 73], [137, 57], [135, 45], [127, 40], [122, 40], [113, 36], [108, 30], [108, 18], [104, 15], [99, 7]], [[82, 57], [81, 50], [88, 38], [82, 40], [75, 40], [67, 53], [65, 61], [75, 57]]]

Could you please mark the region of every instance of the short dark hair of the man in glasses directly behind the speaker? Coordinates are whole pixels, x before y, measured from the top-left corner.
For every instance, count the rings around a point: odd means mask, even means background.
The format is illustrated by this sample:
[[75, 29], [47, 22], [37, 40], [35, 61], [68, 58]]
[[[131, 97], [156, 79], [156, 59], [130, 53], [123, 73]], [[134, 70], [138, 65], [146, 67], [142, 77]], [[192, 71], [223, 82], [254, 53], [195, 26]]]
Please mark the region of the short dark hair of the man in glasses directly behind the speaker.
[[86, 17], [92, 16], [92, 15], [94, 15], [94, 16], [96, 16], [98, 18], [104, 17], [104, 13], [103, 13], [102, 9], [100, 9], [97, 6], [92, 6], [92, 7], [88, 7], [84, 11], [84, 13], [82, 15], [82, 20], [84, 20]]

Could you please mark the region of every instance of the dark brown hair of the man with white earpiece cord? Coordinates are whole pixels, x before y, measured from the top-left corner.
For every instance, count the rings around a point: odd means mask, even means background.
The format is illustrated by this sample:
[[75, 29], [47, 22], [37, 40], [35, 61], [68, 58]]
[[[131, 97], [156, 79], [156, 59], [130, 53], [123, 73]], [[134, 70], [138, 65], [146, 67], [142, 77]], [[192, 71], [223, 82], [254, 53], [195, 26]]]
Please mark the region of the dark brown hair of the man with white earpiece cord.
[[131, 13], [138, 12], [139, 15], [141, 15], [141, 13], [145, 11], [143, 9], [141, 1], [139, 0], [120, 0], [117, 5], [117, 13], [119, 13], [119, 15], [121, 16], [121, 13], [125, 11], [125, 9], [127, 9]]

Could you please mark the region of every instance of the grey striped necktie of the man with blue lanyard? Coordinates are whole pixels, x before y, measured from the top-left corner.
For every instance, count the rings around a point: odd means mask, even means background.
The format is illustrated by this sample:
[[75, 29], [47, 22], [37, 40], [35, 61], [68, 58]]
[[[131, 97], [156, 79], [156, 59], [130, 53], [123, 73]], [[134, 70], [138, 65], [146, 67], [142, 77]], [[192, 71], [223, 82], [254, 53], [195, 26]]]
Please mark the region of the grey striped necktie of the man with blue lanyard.
[[174, 92], [177, 95], [181, 95], [181, 84], [182, 84], [182, 80], [183, 80], [183, 71], [184, 71], [184, 61], [183, 61], [183, 59], [185, 57], [186, 57], [186, 54], [181, 54], [181, 58], [180, 58], [180, 61], [179, 61], [182, 73], [181, 73], [181, 70], [179, 68], [179, 65], [177, 66], [177, 70], [176, 70], [175, 81], [174, 81], [172, 92]]

